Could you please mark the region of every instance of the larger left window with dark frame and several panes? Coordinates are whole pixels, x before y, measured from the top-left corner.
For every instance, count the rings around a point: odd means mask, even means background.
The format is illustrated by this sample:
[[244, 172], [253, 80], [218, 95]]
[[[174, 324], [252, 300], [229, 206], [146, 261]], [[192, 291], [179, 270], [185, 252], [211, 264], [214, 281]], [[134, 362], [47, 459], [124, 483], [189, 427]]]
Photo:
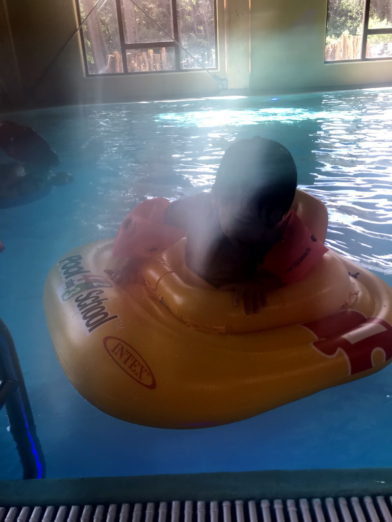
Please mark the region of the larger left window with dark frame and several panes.
[[216, 68], [215, 0], [76, 0], [88, 75]]

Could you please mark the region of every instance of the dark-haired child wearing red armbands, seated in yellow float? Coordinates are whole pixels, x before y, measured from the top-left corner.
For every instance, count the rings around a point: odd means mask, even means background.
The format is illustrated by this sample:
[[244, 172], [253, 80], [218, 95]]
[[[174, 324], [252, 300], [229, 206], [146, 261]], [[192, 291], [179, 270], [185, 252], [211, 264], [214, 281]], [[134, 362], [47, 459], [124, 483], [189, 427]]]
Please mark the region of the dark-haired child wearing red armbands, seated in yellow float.
[[238, 140], [225, 152], [210, 193], [171, 203], [151, 199], [128, 213], [113, 245], [113, 255], [128, 261], [107, 272], [119, 284], [129, 282], [145, 258], [186, 234], [188, 268], [234, 291], [234, 306], [243, 301], [246, 314], [258, 313], [266, 290], [302, 279], [327, 252], [325, 238], [316, 239], [290, 210], [296, 184], [285, 147], [260, 136]]

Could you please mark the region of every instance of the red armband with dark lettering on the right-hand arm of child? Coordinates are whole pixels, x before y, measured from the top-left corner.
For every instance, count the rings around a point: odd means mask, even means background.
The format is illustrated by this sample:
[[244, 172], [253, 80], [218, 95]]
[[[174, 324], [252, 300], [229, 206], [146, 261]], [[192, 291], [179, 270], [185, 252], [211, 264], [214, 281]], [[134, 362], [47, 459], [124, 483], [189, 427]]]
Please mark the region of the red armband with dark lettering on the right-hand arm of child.
[[328, 251], [298, 218], [294, 210], [278, 225], [282, 239], [267, 252], [262, 267], [278, 276], [282, 283], [303, 279]]

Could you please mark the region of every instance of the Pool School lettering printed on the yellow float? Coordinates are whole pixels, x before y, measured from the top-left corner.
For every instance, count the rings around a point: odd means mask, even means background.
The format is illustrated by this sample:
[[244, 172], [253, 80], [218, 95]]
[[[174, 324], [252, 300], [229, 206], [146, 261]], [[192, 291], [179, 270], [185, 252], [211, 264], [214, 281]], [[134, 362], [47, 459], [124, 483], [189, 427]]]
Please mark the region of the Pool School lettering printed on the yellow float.
[[64, 281], [57, 290], [60, 302], [74, 300], [78, 315], [83, 322], [87, 334], [91, 334], [103, 324], [118, 315], [110, 315], [105, 301], [105, 288], [112, 288], [112, 284], [105, 277], [91, 274], [82, 265], [83, 256], [77, 254], [68, 256], [59, 261], [59, 270]]

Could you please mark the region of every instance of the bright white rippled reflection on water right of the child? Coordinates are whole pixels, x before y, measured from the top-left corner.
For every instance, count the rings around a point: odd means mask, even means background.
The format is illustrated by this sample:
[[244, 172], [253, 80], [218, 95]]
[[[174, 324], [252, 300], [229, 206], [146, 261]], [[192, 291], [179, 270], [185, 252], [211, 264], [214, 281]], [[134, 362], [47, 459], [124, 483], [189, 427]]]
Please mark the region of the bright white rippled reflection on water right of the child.
[[[363, 266], [392, 274], [389, 250], [392, 237], [392, 94], [341, 100], [328, 94], [332, 108], [315, 134], [318, 166], [310, 192], [329, 211], [328, 243]], [[335, 117], [333, 108], [350, 105], [351, 121]]]

